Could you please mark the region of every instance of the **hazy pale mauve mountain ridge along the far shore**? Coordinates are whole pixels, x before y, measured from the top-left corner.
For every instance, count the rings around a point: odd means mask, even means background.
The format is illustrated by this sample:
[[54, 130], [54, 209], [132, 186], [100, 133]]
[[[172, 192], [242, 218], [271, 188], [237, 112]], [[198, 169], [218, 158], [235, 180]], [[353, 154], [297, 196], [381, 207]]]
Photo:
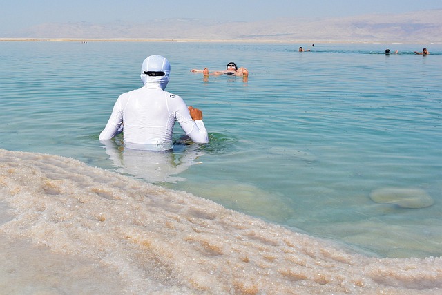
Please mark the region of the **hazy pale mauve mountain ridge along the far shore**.
[[14, 36], [3, 37], [440, 43], [441, 16], [442, 9], [396, 15], [256, 22], [156, 19], [148, 23], [42, 23]]

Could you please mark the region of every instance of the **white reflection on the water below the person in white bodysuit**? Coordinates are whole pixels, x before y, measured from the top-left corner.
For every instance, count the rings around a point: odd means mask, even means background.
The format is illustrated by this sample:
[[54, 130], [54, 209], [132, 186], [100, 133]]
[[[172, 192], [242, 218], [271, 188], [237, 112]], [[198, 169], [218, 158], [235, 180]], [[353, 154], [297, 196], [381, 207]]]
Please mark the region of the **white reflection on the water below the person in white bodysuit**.
[[127, 149], [120, 140], [102, 142], [109, 159], [119, 173], [125, 173], [146, 180], [147, 182], [177, 182], [185, 180], [180, 173], [189, 166], [201, 164], [197, 159], [204, 155], [200, 146], [191, 144], [174, 144], [168, 151], [148, 151]]

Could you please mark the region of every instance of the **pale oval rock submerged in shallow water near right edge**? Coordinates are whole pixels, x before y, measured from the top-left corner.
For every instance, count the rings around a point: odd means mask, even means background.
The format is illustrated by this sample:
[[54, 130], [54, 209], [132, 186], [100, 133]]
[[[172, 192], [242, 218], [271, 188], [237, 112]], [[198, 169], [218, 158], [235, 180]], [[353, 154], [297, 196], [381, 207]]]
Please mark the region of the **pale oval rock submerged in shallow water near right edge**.
[[434, 204], [434, 200], [422, 189], [386, 187], [375, 189], [370, 198], [376, 203], [396, 204], [403, 208], [425, 208]]

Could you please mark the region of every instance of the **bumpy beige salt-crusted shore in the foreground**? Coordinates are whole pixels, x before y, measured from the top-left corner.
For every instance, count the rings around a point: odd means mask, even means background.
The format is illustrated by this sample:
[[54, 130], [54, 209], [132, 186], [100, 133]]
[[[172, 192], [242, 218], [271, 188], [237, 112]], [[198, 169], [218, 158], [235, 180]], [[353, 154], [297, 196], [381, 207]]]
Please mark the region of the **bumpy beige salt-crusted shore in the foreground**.
[[[39, 294], [84, 291], [77, 260], [93, 261], [88, 279], [97, 292], [103, 277], [122, 281], [115, 294], [442, 292], [441, 258], [365, 256], [71, 158], [2, 149], [0, 158], [0, 209], [9, 215], [0, 222], [0, 238], [12, 245], [6, 254], [0, 249], [0, 257], [12, 255], [22, 265], [2, 271], [0, 286], [10, 293], [35, 288], [22, 278], [35, 276]], [[34, 246], [17, 253], [13, 241], [20, 240]], [[29, 256], [32, 247], [50, 252]], [[74, 272], [57, 278], [63, 256]], [[52, 263], [34, 274], [28, 265], [41, 259]], [[104, 274], [95, 277], [97, 269]]]

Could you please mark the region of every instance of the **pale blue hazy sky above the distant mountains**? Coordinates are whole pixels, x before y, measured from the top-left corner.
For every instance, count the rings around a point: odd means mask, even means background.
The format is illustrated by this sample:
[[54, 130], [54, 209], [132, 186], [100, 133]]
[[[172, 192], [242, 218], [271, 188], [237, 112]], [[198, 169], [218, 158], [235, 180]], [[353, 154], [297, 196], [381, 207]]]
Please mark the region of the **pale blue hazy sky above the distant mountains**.
[[0, 32], [39, 23], [106, 23], [197, 18], [260, 21], [278, 17], [346, 17], [441, 9], [442, 0], [1, 0]]

